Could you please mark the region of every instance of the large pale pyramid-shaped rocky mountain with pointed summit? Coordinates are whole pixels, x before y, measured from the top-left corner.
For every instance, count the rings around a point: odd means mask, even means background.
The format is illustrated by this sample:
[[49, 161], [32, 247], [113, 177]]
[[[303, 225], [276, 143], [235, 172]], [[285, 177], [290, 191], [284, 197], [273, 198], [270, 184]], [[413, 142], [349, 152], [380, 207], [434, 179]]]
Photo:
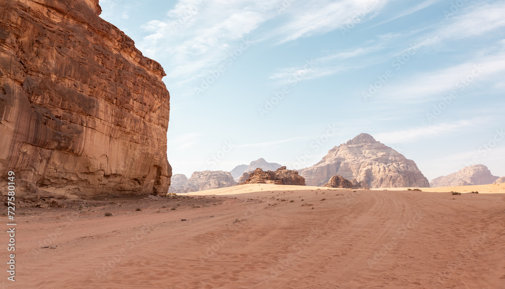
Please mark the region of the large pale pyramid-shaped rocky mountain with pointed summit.
[[368, 134], [332, 148], [320, 162], [299, 172], [307, 186], [322, 186], [337, 175], [371, 188], [430, 186], [413, 160]]

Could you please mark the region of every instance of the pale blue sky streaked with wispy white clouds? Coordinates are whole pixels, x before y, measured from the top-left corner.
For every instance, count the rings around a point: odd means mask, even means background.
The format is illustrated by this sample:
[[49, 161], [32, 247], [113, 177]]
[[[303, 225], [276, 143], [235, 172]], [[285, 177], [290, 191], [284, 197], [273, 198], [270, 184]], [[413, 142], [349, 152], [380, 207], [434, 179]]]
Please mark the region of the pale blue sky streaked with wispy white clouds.
[[369, 133], [505, 176], [505, 1], [102, 0], [165, 68], [174, 174], [317, 163]]

